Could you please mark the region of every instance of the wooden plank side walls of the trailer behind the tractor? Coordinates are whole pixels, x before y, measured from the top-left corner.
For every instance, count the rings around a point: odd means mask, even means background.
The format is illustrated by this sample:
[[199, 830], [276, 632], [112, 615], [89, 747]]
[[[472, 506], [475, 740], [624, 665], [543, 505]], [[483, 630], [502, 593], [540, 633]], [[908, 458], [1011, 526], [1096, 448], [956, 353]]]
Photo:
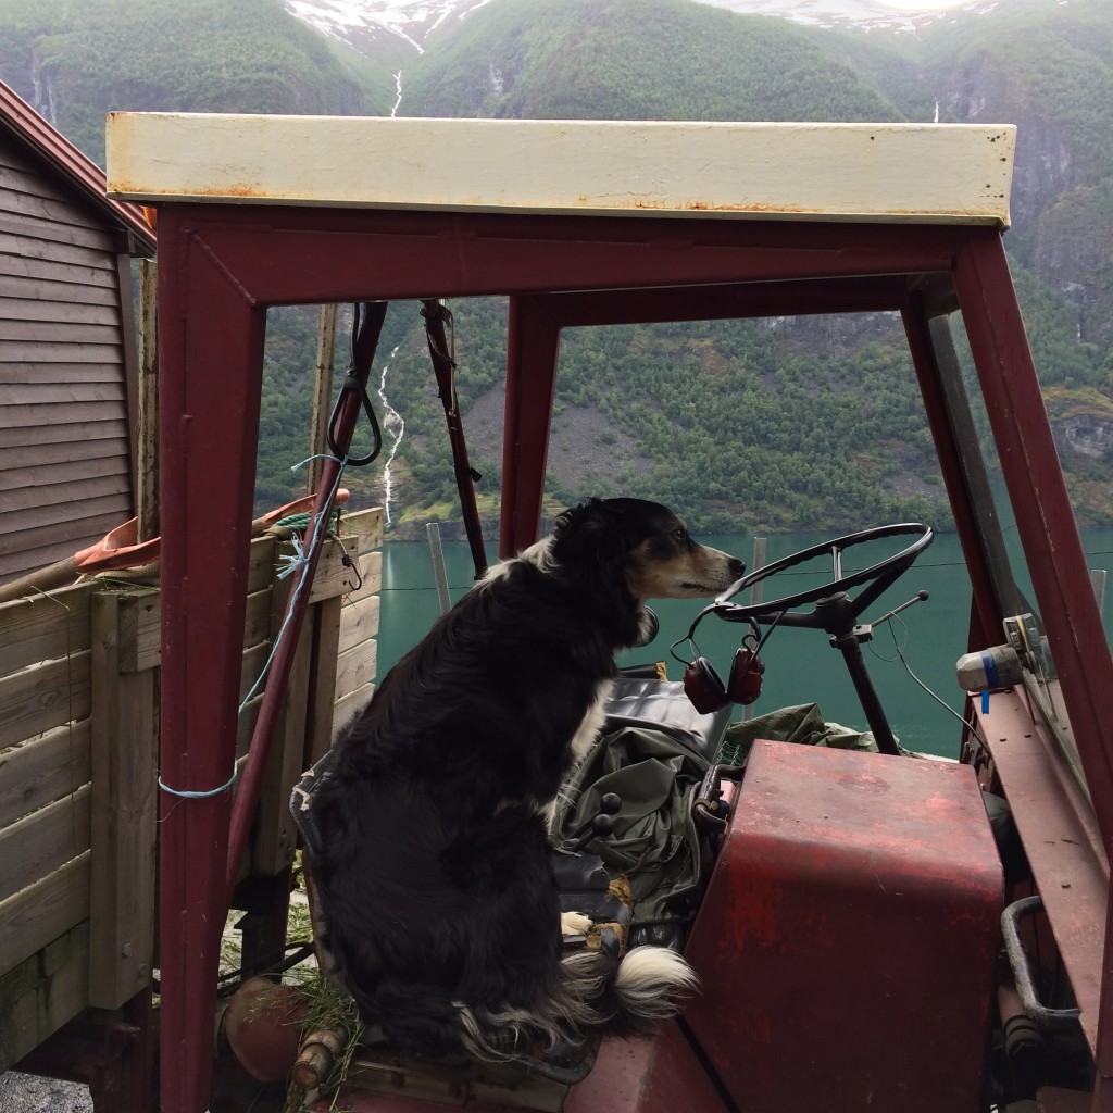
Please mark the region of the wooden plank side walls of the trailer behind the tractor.
[[[290, 788], [373, 690], [381, 511], [345, 516], [339, 533], [317, 568], [244, 877], [289, 866]], [[282, 622], [294, 578], [276, 570], [288, 552], [275, 534], [252, 542], [240, 699]], [[150, 982], [159, 630], [158, 588], [135, 581], [0, 604], [0, 1071]], [[240, 715], [240, 761], [260, 700]]]

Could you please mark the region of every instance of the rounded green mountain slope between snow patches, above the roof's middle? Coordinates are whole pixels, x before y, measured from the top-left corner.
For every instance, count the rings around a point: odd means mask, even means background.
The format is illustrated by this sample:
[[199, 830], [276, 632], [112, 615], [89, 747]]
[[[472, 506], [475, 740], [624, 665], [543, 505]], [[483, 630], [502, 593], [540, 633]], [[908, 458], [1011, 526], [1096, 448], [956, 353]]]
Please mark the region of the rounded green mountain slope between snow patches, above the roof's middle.
[[500, 0], [406, 71], [407, 115], [895, 120], [781, 19], [690, 0]]

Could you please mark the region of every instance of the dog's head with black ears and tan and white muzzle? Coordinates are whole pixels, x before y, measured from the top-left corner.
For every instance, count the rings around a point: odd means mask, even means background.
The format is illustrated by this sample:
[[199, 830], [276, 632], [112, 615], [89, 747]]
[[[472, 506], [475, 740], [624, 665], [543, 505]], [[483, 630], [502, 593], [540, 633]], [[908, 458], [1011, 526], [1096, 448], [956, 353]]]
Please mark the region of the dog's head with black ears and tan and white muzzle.
[[740, 560], [693, 541], [667, 506], [641, 499], [589, 499], [565, 511], [551, 555], [565, 572], [624, 587], [639, 608], [650, 599], [717, 595], [745, 570]]

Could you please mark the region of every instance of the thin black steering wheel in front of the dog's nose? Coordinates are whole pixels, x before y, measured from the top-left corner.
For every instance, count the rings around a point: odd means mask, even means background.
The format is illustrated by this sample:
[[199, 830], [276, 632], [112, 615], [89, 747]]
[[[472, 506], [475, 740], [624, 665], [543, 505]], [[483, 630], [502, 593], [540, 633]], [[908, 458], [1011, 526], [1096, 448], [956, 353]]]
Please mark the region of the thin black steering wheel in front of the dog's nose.
[[[871, 564], [859, 572], [848, 575], [843, 573], [843, 553], [855, 545], [869, 541], [881, 541], [886, 538], [913, 536], [915, 540], [900, 552]], [[878, 525], [870, 530], [848, 533], [846, 536], [825, 541], [809, 549], [801, 549], [790, 556], [774, 561], [755, 569], [749, 575], [743, 575], [732, 583], [716, 601], [707, 608], [708, 612], [717, 614], [727, 622], [772, 622], [778, 626], [804, 627], [811, 630], [826, 630], [831, 634], [846, 633], [854, 626], [857, 617], [877, 599], [887, 588], [898, 580], [913, 565], [917, 556], [935, 540], [935, 533], [929, 525], [918, 522], [900, 522], [895, 525]], [[733, 595], [761, 583], [780, 572], [796, 568], [817, 556], [828, 555], [831, 559], [833, 577], [829, 582], [807, 591], [799, 591], [780, 599], [762, 600], [757, 603], [732, 603]], [[864, 587], [854, 599], [849, 591]], [[811, 610], [797, 611], [794, 608], [808, 607]], [[706, 612], [705, 612], [706, 613]]]

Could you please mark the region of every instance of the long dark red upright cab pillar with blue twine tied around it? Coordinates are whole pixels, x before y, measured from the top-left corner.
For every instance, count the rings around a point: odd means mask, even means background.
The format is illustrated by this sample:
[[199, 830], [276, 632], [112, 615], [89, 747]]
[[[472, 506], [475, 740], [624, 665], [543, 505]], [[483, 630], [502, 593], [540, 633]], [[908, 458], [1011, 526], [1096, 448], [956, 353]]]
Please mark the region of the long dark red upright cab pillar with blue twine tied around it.
[[[208, 1106], [264, 314], [159, 213], [164, 1113]], [[190, 795], [204, 794], [204, 795]]]

